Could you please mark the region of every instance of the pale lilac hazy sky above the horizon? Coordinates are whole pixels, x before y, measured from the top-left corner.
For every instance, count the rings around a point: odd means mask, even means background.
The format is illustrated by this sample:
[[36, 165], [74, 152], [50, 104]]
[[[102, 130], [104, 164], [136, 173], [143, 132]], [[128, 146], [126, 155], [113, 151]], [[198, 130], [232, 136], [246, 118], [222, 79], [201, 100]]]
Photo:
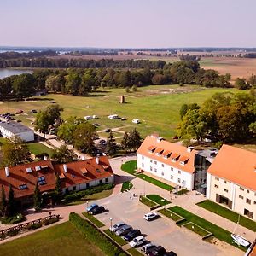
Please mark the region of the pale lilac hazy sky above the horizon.
[[8, 0], [0, 45], [256, 47], [255, 0]]

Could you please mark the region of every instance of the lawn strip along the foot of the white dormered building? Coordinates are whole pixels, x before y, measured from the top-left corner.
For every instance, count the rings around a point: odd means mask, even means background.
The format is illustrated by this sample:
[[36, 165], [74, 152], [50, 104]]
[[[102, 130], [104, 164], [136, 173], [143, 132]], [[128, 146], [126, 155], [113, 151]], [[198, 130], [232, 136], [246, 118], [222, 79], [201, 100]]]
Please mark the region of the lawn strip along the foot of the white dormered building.
[[[121, 169], [125, 172], [128, 172], [132, 175], [136, 174], [136, 169], [137, 169], [137, 160], [131, 160], [131, 161], [127, 161], [125, 162], [125, 164], [123, 164], [121, 166]], [[143, 179], [144, 181], [148, 182], [148, 183], [152, 183], [158, 187], [160, 187], [161, 189], [166, 189], [168, 191], [174, 189], [171, 185], [163, 183], [157, 179], [155, 179], [154, 177], [149, 177], [143, 173], [138, 173], [136, 175], [136, 177], [139, 177], [141, 179]]]

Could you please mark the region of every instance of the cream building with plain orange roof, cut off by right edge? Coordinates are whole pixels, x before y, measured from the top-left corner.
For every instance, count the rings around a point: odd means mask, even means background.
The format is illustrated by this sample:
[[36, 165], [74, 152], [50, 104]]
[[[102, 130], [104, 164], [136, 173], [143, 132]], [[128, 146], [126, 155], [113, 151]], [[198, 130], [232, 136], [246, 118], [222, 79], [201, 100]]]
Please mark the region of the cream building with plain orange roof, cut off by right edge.
[[207, 198], [256, 220], [256, 154], [223, 145], [207, 171]]

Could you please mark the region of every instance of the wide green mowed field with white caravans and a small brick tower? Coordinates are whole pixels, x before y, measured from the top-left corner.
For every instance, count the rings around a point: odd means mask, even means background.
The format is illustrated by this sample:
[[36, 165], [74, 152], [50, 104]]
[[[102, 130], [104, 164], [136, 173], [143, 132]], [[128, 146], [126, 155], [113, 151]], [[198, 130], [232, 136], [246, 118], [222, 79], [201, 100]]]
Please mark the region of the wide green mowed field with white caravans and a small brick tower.
[[[85, 115], [97, 115], [99, 119], [90, 120], [98, 123], [98, 131], [106, 128], [119, 128], [130, 131], [136, 127], [143, 137], [157, 132], [166, 139], [171, 139], [177, 132], [180, 122], [179, 109], [183, 103], [202, 104], [216, 92], [232, 91], [236, 89], [205, 89], [198, 86], [161, 85], [139, 88], [137, 92], [126, 93], [125, 89], [111, 89], [93, 93], [89, 97], [51, 94], [38, 97], [37, 101], [1, 102], [0, 113], [15, 113], [22, 109], [25, 114], [16, 115], [26, 125], [30, 125], [35, 114], [28, 113], [31, 109], [41, 109], [54, 100], [64, 108], [61, 113], [63, 119], [71, 115], [84, 118]], [[125, 95], [125, 104], [119, 103], [121, 95]], [[127, 120], [108, 119], [108, 115], [118, 114]], [[132, 119], [140, 119], [141, 124], [132, 124]]]

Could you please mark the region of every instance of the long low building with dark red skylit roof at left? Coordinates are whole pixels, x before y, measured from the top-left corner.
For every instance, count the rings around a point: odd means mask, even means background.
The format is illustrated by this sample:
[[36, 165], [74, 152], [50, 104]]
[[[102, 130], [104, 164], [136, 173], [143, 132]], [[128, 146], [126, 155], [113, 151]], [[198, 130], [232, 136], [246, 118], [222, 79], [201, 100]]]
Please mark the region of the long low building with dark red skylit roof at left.
[[56, 175], [61, 178], [63, 194], [114, 181], [108, 157], [101, 156], [61, 165], [51, 160], [41, 160], [20, 166], [6, 166], [0, 169], [0, 188], [3, 185], [5, 195], [8, 195], [11, 185], [15, 199], [21, 205], [29, 205], [36, 183], [42, 193], [53, 191]]

